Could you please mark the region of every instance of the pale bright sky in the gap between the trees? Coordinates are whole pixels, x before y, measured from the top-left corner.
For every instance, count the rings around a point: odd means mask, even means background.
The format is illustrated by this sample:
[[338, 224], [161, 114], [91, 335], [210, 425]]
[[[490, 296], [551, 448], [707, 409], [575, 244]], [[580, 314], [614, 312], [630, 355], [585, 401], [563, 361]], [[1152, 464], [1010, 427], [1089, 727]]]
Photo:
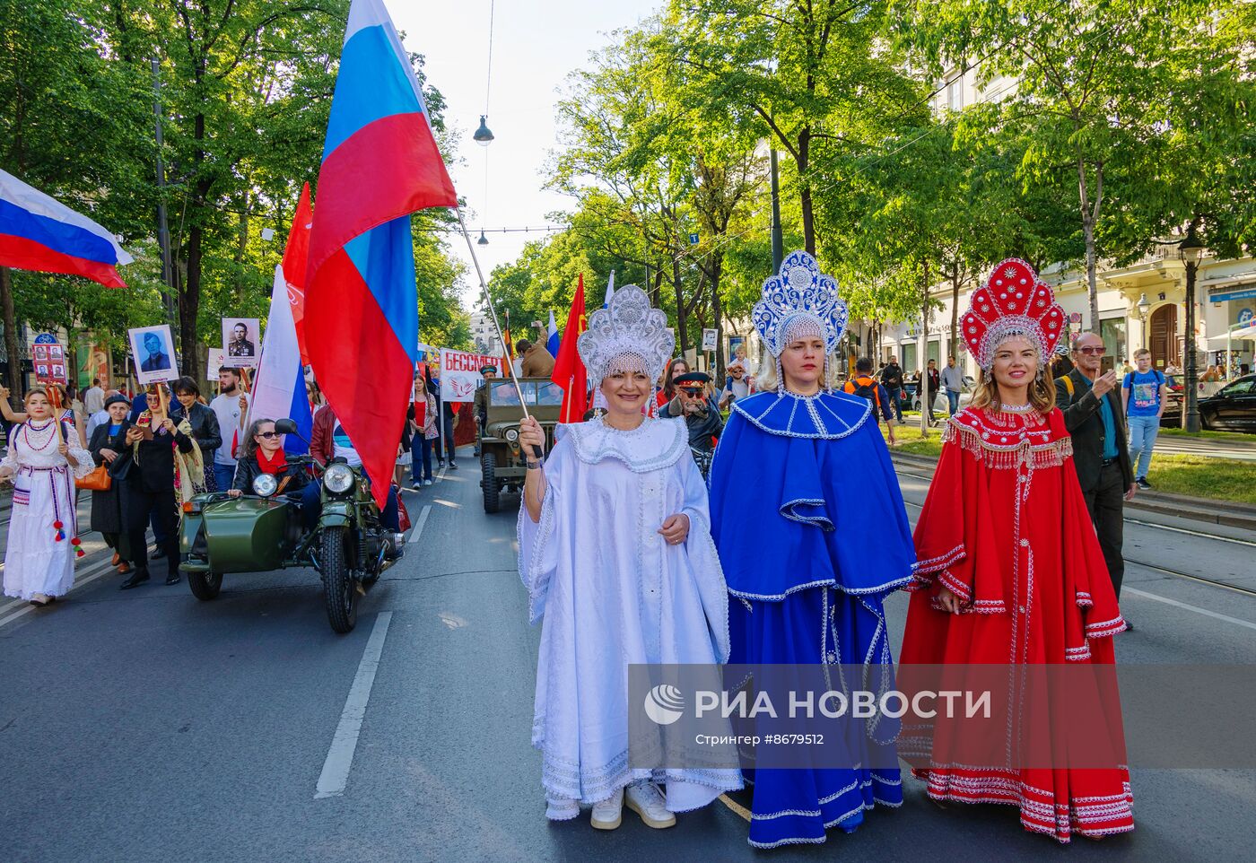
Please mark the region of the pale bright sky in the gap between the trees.
[[[556, 146], [554, 103], [573, 69], [589, 52], [607, 44], [607, 33], [632, 26], [663, 0], [496, 0], [489, 127], [496, 141], [485, 149], [471, 134], [485, 112], [490, 0], [386, 0], [406, 48], [427, 58], [428, 80], [443, 93], [445, 117], [458, 136], [458, 157], [450, 166], [453, 186], [468, 206], [468, 227], [544, 225], [546, 211], [570, 209], [569, 198], [541, 191], [541, 168]], [[474, 214], [474, 215], [472, 215]], [[476, 246], [485, 276], [517, 258], [536, 234], [489, 234]], [[468, 290], [477, 283], [460, 237], [453, 252], [468, 265]], [[470, 309], [470, 296], [463, 300]]]

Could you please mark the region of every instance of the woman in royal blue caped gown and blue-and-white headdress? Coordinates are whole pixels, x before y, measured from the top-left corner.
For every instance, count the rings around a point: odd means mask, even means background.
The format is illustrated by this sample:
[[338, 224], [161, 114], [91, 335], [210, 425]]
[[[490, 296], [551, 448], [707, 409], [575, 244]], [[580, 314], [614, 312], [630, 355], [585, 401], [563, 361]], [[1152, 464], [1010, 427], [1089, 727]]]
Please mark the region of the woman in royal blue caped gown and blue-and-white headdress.
[[[911, 580], [916, 551], [872, 403], [830, 388], [847, 305], [798, 251], [764, 283], [754, 323], [775, 382], [769, 368], [762, 392], [734, 402], [711, 467], [730, 662], [863, 666], [864, 680], [889, 681], [882, 602]], [[858, 729], [850, 766], [744, 771], [751, 845], [820, 843], [875, 804], [902, 804], [893, 724]]]

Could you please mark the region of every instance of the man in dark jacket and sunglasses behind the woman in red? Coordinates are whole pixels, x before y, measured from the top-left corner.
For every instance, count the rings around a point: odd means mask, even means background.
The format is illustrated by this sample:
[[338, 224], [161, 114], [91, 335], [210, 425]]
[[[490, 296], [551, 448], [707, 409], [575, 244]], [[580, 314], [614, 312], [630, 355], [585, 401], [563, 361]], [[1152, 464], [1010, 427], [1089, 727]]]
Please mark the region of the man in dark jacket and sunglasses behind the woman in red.
[[1071, 354], [1074, 369], [1055, 379], [1055, 404], [1064, 412], [1064, 425], [1073, 436], [1073, 465], [1099, 534], [1112, 587], [1120, 599], [1125, 575], [1120, 554], [1124, 501], [1134, 497], [1138, 486], [1129, 464], [1117, 373], [1099, 373], [1103, 354], [1103, 339], [1094, 333], [1076, 338]]

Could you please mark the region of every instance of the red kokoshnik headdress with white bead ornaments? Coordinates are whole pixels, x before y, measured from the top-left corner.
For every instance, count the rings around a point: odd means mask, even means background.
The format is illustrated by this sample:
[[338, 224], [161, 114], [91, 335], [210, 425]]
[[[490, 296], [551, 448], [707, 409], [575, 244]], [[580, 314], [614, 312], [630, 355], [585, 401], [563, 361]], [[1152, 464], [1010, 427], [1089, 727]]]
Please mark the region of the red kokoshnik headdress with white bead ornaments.
[[972, 291], [968, 310], [960, 320], [963, 347], [985, 371], [995, 363], [995, 349], [1012, 335], [1037, 345], [1039, 361], [1055, 352], [1065, 330], [1064, 307], [1055, 291], [1019, 258], [1009, 258]]

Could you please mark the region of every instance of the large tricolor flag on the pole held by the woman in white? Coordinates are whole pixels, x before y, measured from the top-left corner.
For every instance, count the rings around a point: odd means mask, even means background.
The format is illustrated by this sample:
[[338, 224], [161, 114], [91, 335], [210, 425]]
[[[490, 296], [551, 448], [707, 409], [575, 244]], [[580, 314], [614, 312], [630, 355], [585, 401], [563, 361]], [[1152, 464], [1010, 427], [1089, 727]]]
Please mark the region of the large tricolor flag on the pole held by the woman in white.
[[423, 94], [381, 0], [353, 0], [305, 280], [305, 344], [382, 506], [418, 353], [409, 214], [457, 206]]

